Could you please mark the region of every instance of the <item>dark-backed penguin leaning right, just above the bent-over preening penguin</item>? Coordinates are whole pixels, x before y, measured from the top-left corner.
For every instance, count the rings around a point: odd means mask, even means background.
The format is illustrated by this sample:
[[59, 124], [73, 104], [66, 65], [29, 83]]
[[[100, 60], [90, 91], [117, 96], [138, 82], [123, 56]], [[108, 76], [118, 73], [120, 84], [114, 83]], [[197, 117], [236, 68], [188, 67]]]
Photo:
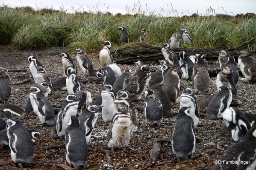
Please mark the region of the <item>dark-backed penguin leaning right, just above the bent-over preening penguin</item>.
[[204, 118], [217, 119], [222, 118], [225, 109], [230, 107], [232, 101], [232, 92], [226, 86], [220, 86], [219, 92], [212, 98], [206, 109]]

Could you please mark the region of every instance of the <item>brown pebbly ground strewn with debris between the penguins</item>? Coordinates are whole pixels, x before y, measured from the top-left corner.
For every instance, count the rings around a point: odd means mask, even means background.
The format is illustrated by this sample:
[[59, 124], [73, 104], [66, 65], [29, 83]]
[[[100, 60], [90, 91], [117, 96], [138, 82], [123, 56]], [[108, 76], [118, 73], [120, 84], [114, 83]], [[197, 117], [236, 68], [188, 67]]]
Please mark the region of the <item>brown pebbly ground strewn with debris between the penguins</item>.
[[[9, 103], [16, 104], [24, 109], [26, 98], [29, 95], [29, 90], [26, 87], [34, 85], [32, 75], [29, 71], [29, 62], [27, 57], [35, 55], [37, 59], [43, 64], [48, 76], [54, 81], [56, 78], [63, 76], [63, 69], [60, 53], [64, 49], [59, 46], [53, 46], [47, 49], [31, 50], [31, 51], [16, 51], [10, 46], [0, 46], [0, 67], [8, 70], [23, 70], [22, 72], [9, 72], [12, 83], [28, 80], [27, 83], [12, 85], [13, 93]], [[70, 54], [77, 64], [74, 54]], [[97, 54], [90, 54], [94, 69], [99, 69], [99, 61]], [[210, 69], [218, 68], [217, 61], [208, 61]], [[152, 68], [158, 63], [148, 63]], [[77, 64], [78, 66], [78, 64]], [[122, 69], [130, 68], [134, 71], [134, 65], [121, 65]], [[155, 69], [153, 69], [155, 70]], [[78, 69], [78, 76], [82, 82], [88, 80], [80, 69]], [[256, 112], [256, 98], [255, 98], [255, 84], [245, 82], [240, 75], [238, 82], [238, 98], [243, 104], [238, 106], [243, 112]], [[211, 78], [211, 92], [216, 93], [216, 77]], [[181, 80], [181, 86], [188, 86], [191, 89], [191, 81]], [[91, 92], [92, 98], [95, 99], [100, 95], [101, 87], [99, 81], [88, 81], [83, 83], [83, 88]], [[48, 99], [52, 104], [63, 104], [68, 95], [67, 91], [56, 91], [55, 94], [49, 95]], [[200, 93], [195, 95], [198, 99], [202, 96]], [[143, 101], [141, 101], [142, 103]], [[140, 105], [143, 106], [143, 105]], [[172, 108], [173, 112], [178, 112], [179, 104]], [[92, 133], [93, 138], [89, 143], [89, 156], [85, 169], [88, 170], [103, 170], [106, 164], [106, 154], [102, 153], [98, 148], [103, 148], [109, 151], [112, 158], [111, 169], [147, 169], [147, 170], [178, 170], [178, 169], [198, 169], [209, 170], [215, 167], [215, 160], [218, 160], [221, 155], [227, 150], [234, 141], [231, 136], [224, 136], [219, 134], [219, 130], [223, 126], [223, 120], [205, 120], [203, 114], [198, 124], [196, 131], [197, 144], [196, 150], [191, 158], [184, 162], [179, 162], [175, 159], [171, 144], [169, 142], [162, 142], [161, 158], [158, 163], [152, 163], [148, 151], [153, 148], [152, 138], [162, 138], [165, 141], [171, 141], [171, 135], [174, 129], [177, 114], [172, 118], [164, 118], [163, 123], [156, 129], [149, 127], [146, 123], [143, 112], [140, 112], [140, 128], [137, 132], [132, 133], [129, 146], [126, 150], [116, 150], [111, 152], [106, 141], [106, 133], [108, 125], [105, 124], [101, 118], [98, 117], [97, 123]], [[42, 150], [41, 147], [48, 145], [65, 144], [64, 140], [56, 140], [50, 137], [53, 133], [53, 127], [42, 127], [37, 115], [27, 115], [21, 123], [27, 129], [38, 130], [42, 136], [34, 144], [34, 156], [37, 164], [49, 165], [49, 167], [37, 165], [14, 166], [6, 165], [0, 166], [0, 169], [14, 170], [14, 169], [33, 169], [33, 170], [62, 170], [62, 165], [69, 165], [65, 159], [65, 148]], [[12, 163], [9, 147], [0, 147], [0, 164]], [[64, 167], [68, 169], [68, 167]]]

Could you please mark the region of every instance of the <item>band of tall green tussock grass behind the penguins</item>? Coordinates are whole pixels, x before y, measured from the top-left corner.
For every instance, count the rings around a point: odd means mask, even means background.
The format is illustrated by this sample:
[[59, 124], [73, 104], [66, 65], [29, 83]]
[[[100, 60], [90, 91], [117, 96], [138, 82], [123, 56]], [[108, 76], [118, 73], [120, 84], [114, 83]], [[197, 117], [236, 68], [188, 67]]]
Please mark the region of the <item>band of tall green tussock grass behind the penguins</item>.
[[[103, 47], [100, 42], [104, 40], [118, 48], [119, 26], [129, 32], [130, 43], [136, 43], [141, 29], [146, 28], [145, 42], [153, 46], [161, 46], [161, 42], [167, 42], [182, 28], [188, 30], [197, 48], [220, 46], [230, 49], [256, 37], [255, 14], [164, 17], [139, 11], [113, 16], [109, 12], [68, 14], [51, 9], [34, 11], [31, 7], [0, 7], [0, 44], [11, 44], [17, 49], [59, 45], [67, 50], [82, 48], [86, 52], [98, 52]], [[248, 49], [255, 49], [255, 45]], [[188, 46], [183, 44], [182, 47]]]

